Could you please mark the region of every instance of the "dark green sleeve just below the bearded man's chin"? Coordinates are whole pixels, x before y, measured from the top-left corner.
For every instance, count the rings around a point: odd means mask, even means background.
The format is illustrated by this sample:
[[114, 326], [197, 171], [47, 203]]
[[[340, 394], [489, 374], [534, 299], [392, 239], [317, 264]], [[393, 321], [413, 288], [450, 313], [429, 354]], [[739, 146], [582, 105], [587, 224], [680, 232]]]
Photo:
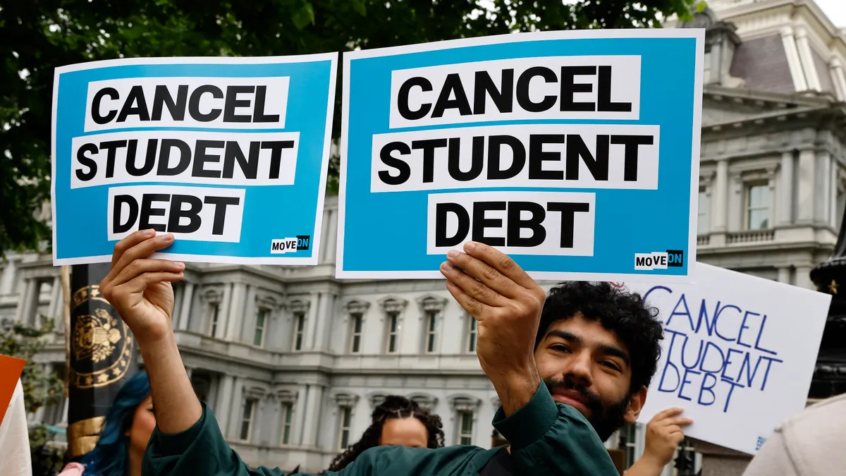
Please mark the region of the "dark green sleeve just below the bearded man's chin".
[[591, 423], [553, 401], [547, 385], [508, 418], [500, 407], [493, 426], [511, 444], [515, 474], [619, 476]]

